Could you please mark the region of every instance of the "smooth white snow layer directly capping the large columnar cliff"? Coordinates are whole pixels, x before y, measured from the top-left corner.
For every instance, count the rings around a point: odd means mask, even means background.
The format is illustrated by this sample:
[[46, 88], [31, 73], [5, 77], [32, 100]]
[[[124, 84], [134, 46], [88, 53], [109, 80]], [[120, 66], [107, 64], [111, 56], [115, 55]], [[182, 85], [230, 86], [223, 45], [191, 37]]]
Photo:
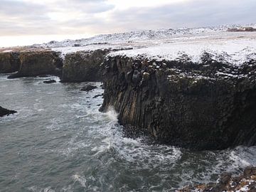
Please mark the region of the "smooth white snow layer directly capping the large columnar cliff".
[[209, 53], [213, 60], [241, 65], [256, 60], [256, 33], [218, 33], [212, 36], [194, 36], [159, 42], [159, 45], [134, 50], [122, 50], [114, 55], [136, 58], [143, 55], [154, 60], [178, 60], [186, 55], [193, 63], [200, 63], [202, 55]]

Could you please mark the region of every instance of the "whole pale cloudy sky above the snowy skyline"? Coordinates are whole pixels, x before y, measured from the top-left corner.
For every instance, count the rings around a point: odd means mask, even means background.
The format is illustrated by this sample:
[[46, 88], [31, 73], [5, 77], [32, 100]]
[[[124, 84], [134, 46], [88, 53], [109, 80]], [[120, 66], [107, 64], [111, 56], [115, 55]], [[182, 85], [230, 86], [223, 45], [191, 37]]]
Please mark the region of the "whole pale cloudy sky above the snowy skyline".
[[255, 0], [0, 0], [0, 47], [102, 33], [245, 24]]

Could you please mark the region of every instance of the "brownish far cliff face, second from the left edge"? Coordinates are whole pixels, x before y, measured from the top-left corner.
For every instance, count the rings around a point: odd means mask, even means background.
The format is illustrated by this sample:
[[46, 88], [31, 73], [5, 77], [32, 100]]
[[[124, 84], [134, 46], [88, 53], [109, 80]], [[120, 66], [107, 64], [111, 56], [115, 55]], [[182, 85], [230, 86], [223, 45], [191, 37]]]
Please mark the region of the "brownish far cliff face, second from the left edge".
[[59, 53], [51, 50], [21, 52], [18, 73], [9, 78], [34, 77], [37, 75], [61, 75], [63, 61]]

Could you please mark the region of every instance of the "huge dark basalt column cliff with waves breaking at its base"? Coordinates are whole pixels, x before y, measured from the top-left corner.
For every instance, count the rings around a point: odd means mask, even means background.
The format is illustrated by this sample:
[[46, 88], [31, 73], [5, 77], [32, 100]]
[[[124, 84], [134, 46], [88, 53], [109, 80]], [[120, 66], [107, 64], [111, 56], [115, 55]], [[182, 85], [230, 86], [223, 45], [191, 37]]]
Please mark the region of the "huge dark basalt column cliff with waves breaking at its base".
[[256, 144], [256, 62], [154, 61], [125, 56], [104, 63], [104, 102], [127, 132], [191, 149]]

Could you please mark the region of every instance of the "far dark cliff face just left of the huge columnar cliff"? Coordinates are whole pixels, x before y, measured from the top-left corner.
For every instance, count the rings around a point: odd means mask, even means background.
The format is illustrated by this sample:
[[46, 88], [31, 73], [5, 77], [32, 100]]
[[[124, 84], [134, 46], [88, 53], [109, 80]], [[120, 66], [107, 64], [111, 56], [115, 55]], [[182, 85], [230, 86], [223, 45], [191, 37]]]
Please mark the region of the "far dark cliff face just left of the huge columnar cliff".
[[61, 82], [97, 82], [102, 80], [100, 65], [110, 50], [78, 51], [65, 55]]

